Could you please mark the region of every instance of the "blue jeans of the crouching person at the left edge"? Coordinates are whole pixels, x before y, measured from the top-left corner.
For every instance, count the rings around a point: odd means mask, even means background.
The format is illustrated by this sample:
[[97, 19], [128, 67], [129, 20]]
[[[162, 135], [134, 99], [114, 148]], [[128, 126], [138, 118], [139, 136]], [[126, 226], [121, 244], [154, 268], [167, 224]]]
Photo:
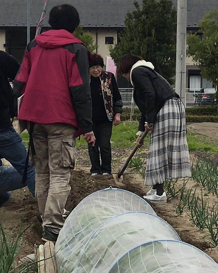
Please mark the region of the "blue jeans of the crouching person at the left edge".
[[26, 156], [26, 148], [14, 127], [0, 130], [0, 158], [5, 158], [13, 166], [1, 166], [0, 162], [0, 203], [1, 194], [24, 186], [28, 186], [29, 191], [35, 197], [35, 167], [30, 163], [26, 184], [22, 184]]

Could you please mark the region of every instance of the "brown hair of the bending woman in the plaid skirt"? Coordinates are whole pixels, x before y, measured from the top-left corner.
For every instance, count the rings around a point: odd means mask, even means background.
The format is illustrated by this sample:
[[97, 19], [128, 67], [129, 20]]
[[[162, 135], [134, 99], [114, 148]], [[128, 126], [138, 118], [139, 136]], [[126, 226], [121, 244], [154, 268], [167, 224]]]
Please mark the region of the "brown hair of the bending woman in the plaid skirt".
[[118, 73], [121, 75], [128, 73], [132, 66], [140, 60], [143, 60], [141, 56], [132, 54], [123, 55], [118, 62]]

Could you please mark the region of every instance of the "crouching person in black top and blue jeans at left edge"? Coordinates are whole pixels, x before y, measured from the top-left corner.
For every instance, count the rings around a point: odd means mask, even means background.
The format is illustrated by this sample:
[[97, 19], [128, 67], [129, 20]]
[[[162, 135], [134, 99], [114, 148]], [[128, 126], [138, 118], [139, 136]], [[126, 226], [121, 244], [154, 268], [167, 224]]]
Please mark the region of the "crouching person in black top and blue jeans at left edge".
[[[14, 80], [20, 64], [10, 54], [0, 50], [0, 206], [11, 197], [10, 191], [28, 186], [35, 197], [35, 168], [29, 164], [26, 183], [26, 147], [11, 122], [14, 117], [13, 94], [8, 78]], [[12, 166], [3, 166], [5, 158]]]

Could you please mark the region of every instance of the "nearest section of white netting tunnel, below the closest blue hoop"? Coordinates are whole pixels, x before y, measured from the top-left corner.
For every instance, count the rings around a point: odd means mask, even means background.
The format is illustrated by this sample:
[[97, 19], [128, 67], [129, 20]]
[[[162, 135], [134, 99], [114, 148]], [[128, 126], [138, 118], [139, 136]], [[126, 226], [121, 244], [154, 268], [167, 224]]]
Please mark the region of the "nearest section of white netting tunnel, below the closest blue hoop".
[[109, 273], [215, 273], [218, 265], [193, 245], [179, 241], [153, 241], [119, 259]]

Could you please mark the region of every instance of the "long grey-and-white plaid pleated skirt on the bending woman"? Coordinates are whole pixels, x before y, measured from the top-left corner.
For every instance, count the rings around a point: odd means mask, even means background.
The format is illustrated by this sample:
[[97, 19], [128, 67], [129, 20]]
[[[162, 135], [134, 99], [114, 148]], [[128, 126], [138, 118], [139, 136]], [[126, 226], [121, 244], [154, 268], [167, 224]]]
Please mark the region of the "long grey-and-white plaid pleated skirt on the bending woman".
[[167, 100], [156, 116], [150, 139], [145, 185], [190, 177], [185, 108], [180, 99]]

